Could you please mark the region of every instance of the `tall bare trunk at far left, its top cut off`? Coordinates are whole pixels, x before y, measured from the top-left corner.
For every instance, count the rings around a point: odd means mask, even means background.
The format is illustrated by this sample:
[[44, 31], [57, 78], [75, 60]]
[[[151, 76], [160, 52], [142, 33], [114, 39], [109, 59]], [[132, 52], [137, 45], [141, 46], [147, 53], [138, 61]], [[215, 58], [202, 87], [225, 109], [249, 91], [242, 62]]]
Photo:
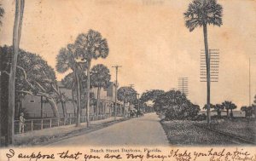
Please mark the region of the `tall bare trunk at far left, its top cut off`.
[[14, 55], [12, 57], [12, 64], [9, 74], [9, 109], [8, 109], [8, 131], [7, 131], [7, 144], [14, 144], [15, 126], [15, 74], [16, 66], [19, 55], [21, 25], [24, 10], [25, 0], [16, 0], [15, 2], [15, 26], [13, 31], [13, 48]]

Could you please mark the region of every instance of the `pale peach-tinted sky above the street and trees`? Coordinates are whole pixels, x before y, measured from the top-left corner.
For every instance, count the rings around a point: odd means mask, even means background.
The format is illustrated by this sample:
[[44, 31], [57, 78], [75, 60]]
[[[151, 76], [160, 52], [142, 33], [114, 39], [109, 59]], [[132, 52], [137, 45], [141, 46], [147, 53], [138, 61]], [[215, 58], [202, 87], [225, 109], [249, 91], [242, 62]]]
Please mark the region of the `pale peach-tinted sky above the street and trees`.
[[[5, 9], [0, 44], [12, 44], [15, 0], [1, 1]], [[106, 59], [112, 81], [119, 65], [119, 84], [134, 84], [138, 93], [177, 88], [177, 78], [189, 78], [189, 99], [207, 101], [207, 83], [200, 82], [202, 28], [184, 26], [190, 0], [27, 0], [20, 48], [41, 55], [55, 68], [55, 57], [79, 33], [93, 29], [108, 40]], [[212, 103], [233, 101], [238, 108], [256, 94], [256, 1], [218, 0], [224, 8], [223, 26], [208, 26], [210, 49], [219, 49], [218, 83], [211, 83]], [[68, 72], [67, 72], [68, 73]], [[65, 74], [56, 72], [58, 80]]]

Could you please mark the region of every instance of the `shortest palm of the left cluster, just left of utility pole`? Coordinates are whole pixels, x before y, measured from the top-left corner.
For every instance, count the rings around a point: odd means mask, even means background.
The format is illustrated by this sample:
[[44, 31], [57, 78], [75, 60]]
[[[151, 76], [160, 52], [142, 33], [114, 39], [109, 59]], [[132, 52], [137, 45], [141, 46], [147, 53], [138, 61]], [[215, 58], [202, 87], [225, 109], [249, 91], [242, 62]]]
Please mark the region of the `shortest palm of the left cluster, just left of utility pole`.
[[109, 74], [108, 67], [102, 64], [93, 66], [90, 72], [91, 72], [91, 76], [90, 76], [91, 86], [97, 88], [96, 118], [98, 118], [100, 99], [101, 99], [100, 98], [101, 89], [108, 88], [111, 76]]

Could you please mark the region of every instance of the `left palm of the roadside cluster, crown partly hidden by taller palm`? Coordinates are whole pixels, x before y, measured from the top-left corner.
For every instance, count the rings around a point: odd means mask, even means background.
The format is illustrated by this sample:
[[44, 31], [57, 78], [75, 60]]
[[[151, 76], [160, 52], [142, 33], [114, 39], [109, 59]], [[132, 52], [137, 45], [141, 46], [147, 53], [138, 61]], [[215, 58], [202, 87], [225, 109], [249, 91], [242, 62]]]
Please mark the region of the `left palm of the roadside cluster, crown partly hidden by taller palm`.
[[61, 48], [59, 55], [56, 57], [57, 72], [64, 73], [71, 69], [74, 73], [76, 88], [77, 88], [77, 119], [76, 126], [80, 125], [81, 119], [81, 94], [80, 94], [80, 78], [79, 78], [79, 63], [75, 59], [75, 49], [73, 44], [68, 44], [67, 48]]

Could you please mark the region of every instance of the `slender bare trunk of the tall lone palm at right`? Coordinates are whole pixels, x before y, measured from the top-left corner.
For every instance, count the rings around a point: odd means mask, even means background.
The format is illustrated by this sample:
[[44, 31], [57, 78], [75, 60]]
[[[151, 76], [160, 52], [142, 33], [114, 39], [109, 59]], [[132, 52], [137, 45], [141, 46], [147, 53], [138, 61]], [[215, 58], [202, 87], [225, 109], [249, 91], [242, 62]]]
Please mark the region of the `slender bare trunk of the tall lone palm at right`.
[[211, 122], [211, 73], [210, 73], [210, 55], [208, 49], [208, 38], [207, 38], [207, 24], [203, 25], [204, 32], [204, 42], [205, 42], [205, 54], [206, 54], [206, 63], [207, 63], [207, 124]]

